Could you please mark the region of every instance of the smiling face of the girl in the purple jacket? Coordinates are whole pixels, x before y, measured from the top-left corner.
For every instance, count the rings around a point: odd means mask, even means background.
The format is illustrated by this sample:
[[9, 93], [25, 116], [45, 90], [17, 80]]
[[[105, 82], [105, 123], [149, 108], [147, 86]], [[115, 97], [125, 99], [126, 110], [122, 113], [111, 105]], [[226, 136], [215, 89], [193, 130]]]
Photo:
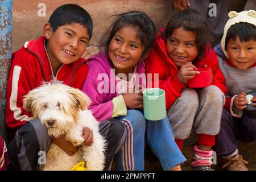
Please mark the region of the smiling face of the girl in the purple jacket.
[[141, 59], [144, 46], [138, 36], [138, 28], [124, 26], [113, 36], [109, 44], [109, 58], [112, 61], [115, 73], [125, 73], [133, 71]]

